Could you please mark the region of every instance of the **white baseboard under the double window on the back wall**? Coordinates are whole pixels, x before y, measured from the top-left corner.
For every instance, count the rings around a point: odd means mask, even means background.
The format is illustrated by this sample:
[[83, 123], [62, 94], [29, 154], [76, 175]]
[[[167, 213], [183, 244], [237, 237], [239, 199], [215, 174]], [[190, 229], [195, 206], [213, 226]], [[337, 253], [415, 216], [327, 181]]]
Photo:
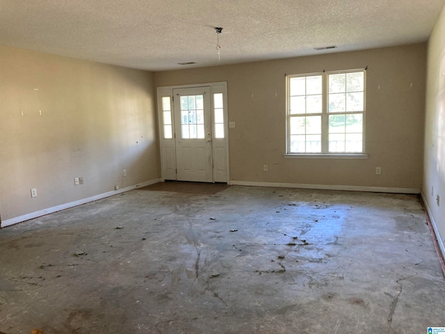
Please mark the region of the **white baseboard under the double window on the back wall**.
[[236, 186], [270, 186], [277, 188], [369, 191], [373, 193], [414, 193], [414, 194], [420, 193], [420, 189], [389, 188], [385, 186], [343, 186], [343, 185], [329, 185], [329, 184], [298, 184], [298, 183], [250, 182], [250, 181], [231, 181], [229, 184], [233, 184]]

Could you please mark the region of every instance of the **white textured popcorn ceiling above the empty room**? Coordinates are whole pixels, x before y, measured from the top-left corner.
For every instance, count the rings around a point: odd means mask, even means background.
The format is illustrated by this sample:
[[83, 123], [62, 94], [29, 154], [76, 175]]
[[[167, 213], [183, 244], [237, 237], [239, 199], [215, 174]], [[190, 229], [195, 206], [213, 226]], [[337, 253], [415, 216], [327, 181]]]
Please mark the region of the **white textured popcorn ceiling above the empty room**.
[[[0, 0], [0, 45], [143, 70], [428, 40], [445, 0]], [[215, 26], [223, 27], [220, 60]], [[315, 51], [314, 47], [337, 45]], [[194, 65], [177, 65], [194, 61]]]

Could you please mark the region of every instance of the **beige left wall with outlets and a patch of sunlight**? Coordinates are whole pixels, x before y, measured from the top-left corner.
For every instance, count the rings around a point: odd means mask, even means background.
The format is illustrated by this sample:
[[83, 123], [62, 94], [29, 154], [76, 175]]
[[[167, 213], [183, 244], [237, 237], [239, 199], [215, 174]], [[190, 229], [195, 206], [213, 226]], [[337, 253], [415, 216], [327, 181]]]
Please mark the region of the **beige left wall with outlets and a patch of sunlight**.
[[151, 72], [0, 47], [1, 219], [160, 177], [154, 90]]

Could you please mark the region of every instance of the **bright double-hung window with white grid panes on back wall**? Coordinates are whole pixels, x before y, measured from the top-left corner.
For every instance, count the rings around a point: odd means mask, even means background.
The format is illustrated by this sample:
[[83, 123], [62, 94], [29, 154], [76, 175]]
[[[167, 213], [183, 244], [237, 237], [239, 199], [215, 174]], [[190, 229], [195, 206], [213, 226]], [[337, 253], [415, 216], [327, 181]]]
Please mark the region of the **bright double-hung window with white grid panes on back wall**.
[[288, 75], [287, 154], [364, 154], [365, 70]]

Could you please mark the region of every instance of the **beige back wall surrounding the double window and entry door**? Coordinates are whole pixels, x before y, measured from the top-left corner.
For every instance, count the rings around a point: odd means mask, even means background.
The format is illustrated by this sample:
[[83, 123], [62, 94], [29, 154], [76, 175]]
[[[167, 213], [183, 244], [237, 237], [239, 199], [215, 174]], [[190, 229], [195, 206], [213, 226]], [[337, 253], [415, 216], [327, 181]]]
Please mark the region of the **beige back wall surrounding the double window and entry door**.
[[[284, 158], [284, 74], [366, 65], [369, 158]], [[231, 180], [421, 189], [425, 43], [154, 73], [156, 86], [214, 81], [227, 81], [229, 120], [236, 122], [229, 132]], [[263, 171], [264, 164], [268, 172]], [[382, 168], [381, 175], [375, 175], [375, 167]]]

